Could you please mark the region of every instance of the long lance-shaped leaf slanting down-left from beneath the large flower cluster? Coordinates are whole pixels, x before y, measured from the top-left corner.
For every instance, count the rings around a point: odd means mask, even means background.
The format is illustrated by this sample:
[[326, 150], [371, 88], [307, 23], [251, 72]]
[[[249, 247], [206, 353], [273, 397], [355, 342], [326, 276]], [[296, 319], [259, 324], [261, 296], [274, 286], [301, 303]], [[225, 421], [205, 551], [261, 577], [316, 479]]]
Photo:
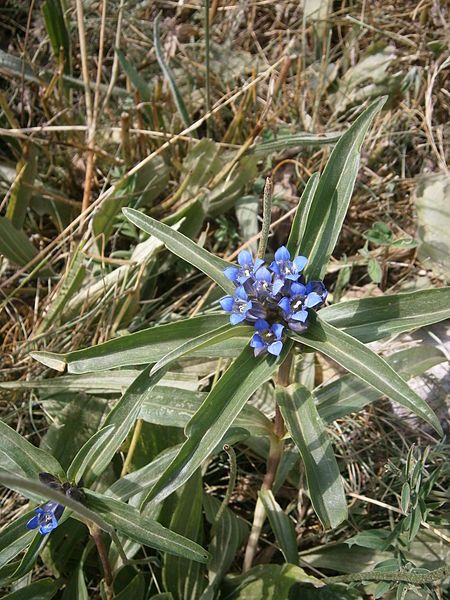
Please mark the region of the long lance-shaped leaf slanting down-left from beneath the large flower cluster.
[[278, 359], [255, 358], [251, 348], [244, 349], [188, 423], [188, 439], [150, 490], [146, 502], [160, 502], [189, 479], [230, 429], [247, 399], [271, 377], [290, 347], [289, 343], [285, 344]]

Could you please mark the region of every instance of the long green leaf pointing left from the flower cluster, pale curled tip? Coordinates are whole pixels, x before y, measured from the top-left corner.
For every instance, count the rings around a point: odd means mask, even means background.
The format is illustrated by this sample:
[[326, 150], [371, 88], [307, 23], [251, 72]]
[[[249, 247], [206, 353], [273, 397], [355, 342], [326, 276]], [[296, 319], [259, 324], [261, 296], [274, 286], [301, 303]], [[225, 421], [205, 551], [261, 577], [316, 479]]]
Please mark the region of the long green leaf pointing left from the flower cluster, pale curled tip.
[[[229, 317], [225, 314], [194, 317], [168, 325], [150, 327], [67, 354], [31, 352], [31, 356], [57, 371], [64, 371], [67, 368], [69, 373], [90, 373], [155, 363], [193, 337], [222, 327], [228, 322]], [[209, 355], [209, 352], [200, 354], [200, 356]]]

